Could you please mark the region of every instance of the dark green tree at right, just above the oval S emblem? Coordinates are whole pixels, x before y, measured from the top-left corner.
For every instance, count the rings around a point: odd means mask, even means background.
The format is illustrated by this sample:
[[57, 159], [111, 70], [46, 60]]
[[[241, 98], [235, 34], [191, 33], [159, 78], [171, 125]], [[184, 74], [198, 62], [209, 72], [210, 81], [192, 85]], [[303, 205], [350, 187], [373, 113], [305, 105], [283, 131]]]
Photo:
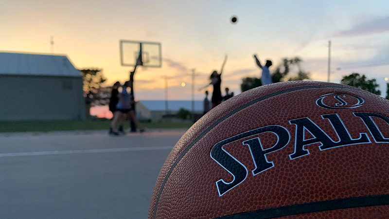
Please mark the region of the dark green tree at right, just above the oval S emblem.
[[362, 74], [361, 76], [359, 73], [351, 73], [350, 75], [344, 76], [340, 83], [381, 95], [381, 91], [378, 90], [379, 85], [377, 84], [376, 80], [367, 79], [365, 74]]

